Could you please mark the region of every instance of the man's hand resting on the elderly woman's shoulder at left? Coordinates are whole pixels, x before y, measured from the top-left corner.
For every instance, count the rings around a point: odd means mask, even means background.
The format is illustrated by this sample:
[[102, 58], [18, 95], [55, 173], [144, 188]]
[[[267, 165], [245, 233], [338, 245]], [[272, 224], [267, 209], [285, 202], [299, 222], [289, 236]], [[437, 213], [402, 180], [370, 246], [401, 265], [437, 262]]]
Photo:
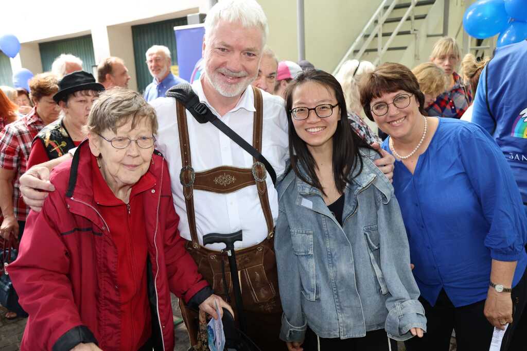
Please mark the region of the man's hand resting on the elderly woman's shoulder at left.
[[49, 191], [55, 191], [55, 187], [50, 183], [50, 170], [46, 167], [36, 165], [20, 177], [22, 198], [33, 211], [40, 212]]

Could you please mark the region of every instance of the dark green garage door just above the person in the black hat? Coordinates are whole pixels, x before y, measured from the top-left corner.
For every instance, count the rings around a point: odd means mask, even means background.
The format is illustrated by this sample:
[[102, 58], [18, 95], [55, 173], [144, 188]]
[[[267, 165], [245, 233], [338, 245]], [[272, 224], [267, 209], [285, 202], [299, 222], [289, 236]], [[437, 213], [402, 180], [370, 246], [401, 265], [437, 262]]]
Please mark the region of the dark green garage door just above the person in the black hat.
[[40, 43], [38, 48], [40, 48], [44, 72], [51, 71], [53, 61], [60, 54], [72, 54], [79, 57], [82, 60], [82, 69], [89, 73], [93, 73], [92, 67], [96, 65], [91, 35]]

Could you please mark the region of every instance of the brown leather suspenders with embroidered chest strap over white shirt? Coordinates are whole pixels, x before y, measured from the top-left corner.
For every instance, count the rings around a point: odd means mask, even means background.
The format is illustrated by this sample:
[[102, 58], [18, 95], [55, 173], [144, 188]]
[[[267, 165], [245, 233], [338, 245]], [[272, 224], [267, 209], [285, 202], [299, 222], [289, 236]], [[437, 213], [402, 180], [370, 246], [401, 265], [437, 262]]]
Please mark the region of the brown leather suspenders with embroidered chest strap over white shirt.
[[[255, 96], [256, 108], [252, 126], [252, 146], [261, 152], [263, 124], [262, 95], [258, 88], [253, 87], [252, 91]], [[192, 168], [192, 159], [190, 155], [187, 113], [183, 103], [181, 103], [179, 100], [176, 101], [182, 163], [179, 179], [183, 186], [183, 196], [185, 198], [185, 206], [187, 208], [187, 218], [189, 221], [192, 247], [194, 249], [198, 249], [200, 247], [198, 233], [196, 230], [196, 214], [194, 213], [194, 189], [217, 193], [229, 193], [256, 184], [258, 196], [260, 198], [260, 204], [267, 223], [267, 237], [272, 238], [274, 233], [274, 223], [272, 221], [271, 208], [269, 206], [267, 184], [265, 181], [267, 172], [265, 170], [264, 164], [256, 161], [253, 158], [254, 163], [252, 168], [221, 166], [202, 172], [195, 172]]]

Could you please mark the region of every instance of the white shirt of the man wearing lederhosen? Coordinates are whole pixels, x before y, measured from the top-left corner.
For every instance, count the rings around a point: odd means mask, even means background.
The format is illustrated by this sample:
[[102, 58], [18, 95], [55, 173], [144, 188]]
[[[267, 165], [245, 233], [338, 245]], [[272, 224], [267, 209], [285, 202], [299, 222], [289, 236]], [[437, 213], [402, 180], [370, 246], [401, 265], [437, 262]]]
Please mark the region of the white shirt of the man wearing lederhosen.
[[[212, 108], [203, 93], [201, 80], [192, 84], [202, 103], [207, 104], [212, 113], [219, 114]], [[284, 100], [278, 96], [262, 91], [263, 130], [262, 155], [275, 169], [277, 175], [284, 172], [288, 158], [287, 115]], [[179, 231], [183, 238], [191, 240], [187, 210], [183, 197], [183, 187], [179, 180], [181, 171], [181, 149], [179, 144], [176, 104], [173, 98], [162, 98], [152, 102], [158, 116], [159, 130], [157, 149], [168, 161], [175, 211], [180, 216]], [[227, 124], [248, 143], [252, 144], [253, 113], [256, 111], [252, 87], [242, 94], [235, 108], [221, 116]], [[190, 138], [192, 168], [201, 172], [221, 165], [251, 168], [252, 156], [227, 135], [211, 123], [200, 124], [187, 111], [187, 123]], [[278, 216], [277, 192], [269, 174], [266, 179], [269, 203], [273, 220]], [[208, 233], [232, 233], [243, 231], [243, 241], [235, 243], [235, 248], [256, 245], [267, 237], [267, 225], [258, 197], [256, 186], [249, 186], [235, 192], [219, 194], [194, 189], [194, 209], [196, 212], [196, 229], [200, 244], [202, 237]], [[211, 250], [221, 250], [224, 244], [216, 243], [206, 246]]]

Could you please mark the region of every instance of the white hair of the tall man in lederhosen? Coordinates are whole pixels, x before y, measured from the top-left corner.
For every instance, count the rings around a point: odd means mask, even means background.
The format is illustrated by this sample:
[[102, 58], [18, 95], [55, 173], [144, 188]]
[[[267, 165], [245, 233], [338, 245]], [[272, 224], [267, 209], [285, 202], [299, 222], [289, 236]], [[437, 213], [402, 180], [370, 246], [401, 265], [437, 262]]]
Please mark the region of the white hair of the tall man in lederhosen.
[[267, 42], [269, 27], [264, 10], [255, 0], [223, 0], [212, 6], [205, 18], [205, 42], [220, 21], [240, 22], [245, 28], [259, 27], [262, 32], [262, 46]]

